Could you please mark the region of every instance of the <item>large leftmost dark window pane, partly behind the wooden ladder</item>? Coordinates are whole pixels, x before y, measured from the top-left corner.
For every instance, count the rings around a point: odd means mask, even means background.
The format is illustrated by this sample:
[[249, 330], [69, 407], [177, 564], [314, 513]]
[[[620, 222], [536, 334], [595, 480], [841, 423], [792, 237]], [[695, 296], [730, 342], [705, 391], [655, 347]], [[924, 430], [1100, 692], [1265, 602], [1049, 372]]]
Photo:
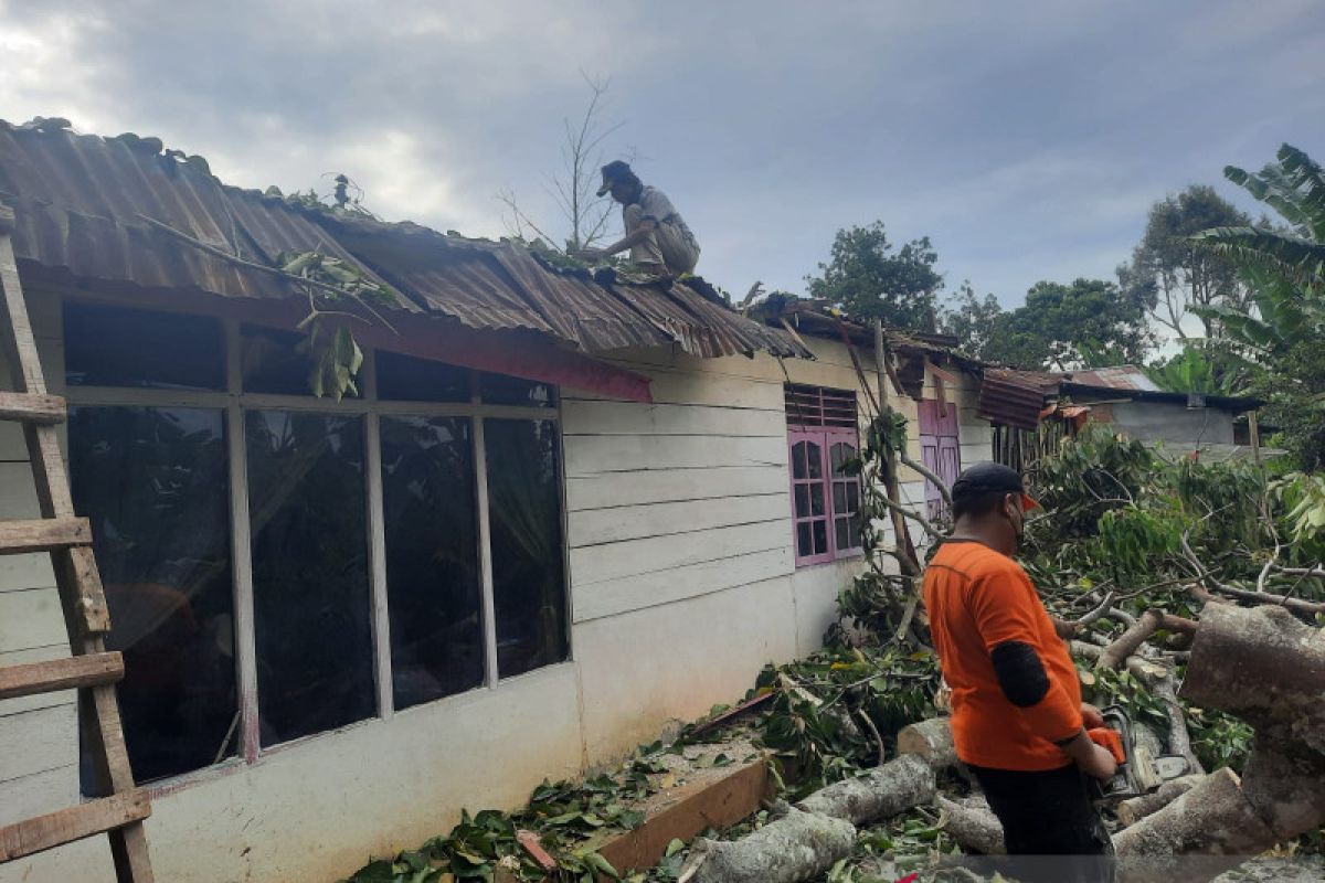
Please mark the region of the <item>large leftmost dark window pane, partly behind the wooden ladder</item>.
[[[235, 616], [220, 410], [70, 408], [74, 508], [91, 522], [139, 782], [235, 753]], [[83, 786], [91, 793], [85, 763]]]

